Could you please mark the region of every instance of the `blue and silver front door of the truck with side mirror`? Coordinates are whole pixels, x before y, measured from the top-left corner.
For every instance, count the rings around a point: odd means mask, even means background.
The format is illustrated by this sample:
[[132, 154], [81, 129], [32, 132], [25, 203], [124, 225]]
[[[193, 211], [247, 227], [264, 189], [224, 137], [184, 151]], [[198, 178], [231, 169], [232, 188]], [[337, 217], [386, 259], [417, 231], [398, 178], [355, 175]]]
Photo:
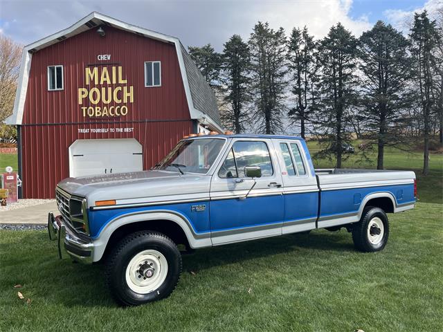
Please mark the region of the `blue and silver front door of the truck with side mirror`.
[[[230, 143], [211, 182], [213, 244], [282, 234], [282, 176], [273, 151], [266, 139], [238, 138]], [[262, 176], [246, 178], [246, 166], [260, 166]]]

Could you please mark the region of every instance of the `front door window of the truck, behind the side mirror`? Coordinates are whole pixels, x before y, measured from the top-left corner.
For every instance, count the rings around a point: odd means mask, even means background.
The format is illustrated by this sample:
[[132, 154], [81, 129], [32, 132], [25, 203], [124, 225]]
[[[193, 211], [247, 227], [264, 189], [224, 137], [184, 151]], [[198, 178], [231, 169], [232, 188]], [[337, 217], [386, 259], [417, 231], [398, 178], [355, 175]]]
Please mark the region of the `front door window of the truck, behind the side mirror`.
[[235, 142], [221, 165], [219, 176], [221, 178], [244, 178], [244, 167], [246, 166], [260, 166], [262, 176], [273, 174], [271, 156], [269, 156], [269, 149], [265, 142]]

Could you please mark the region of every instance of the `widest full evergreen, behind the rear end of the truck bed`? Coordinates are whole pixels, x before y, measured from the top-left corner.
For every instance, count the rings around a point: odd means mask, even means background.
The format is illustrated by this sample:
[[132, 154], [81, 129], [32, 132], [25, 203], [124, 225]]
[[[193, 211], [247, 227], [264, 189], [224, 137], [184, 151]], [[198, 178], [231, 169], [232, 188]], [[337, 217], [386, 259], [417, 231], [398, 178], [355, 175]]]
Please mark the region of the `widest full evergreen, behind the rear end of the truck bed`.
[[359, 40], [361, 116], [366, 136], [378, 147], [377, 169], [383, 169], [384, 147], [396, 146], [404, 137], [404, 114], [410, 106], [404, 91], [410, 79], [408, 41], [399, 31], [378, 21]]

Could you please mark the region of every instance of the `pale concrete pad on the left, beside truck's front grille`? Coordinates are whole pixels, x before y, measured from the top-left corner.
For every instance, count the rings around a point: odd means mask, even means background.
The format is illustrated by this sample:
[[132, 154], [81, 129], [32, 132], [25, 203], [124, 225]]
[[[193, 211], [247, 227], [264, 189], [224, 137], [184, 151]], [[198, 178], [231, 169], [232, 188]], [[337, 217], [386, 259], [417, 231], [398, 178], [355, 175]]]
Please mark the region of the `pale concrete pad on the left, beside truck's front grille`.
[[2, 211], [0, 212], [0, 223], [33, 223], [46, 225], [46, 223], [48, 223], [48, 212], [54, 212], [55, 215], [59, 214], [55, 202], [33, 205], [17, 210]]

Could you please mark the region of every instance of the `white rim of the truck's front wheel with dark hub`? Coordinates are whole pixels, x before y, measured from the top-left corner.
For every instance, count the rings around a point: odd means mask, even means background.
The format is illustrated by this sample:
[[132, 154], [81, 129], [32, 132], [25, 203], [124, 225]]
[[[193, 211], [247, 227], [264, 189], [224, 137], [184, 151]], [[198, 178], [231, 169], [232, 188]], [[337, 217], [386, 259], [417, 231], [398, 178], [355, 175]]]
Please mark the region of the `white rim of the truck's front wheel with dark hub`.
[[157, 250], [143, 250], [132, 257], [126, 268], [126, 283], [132, 291], [147, 294], [165, 282], [168, 261]]

